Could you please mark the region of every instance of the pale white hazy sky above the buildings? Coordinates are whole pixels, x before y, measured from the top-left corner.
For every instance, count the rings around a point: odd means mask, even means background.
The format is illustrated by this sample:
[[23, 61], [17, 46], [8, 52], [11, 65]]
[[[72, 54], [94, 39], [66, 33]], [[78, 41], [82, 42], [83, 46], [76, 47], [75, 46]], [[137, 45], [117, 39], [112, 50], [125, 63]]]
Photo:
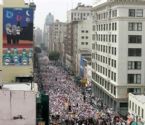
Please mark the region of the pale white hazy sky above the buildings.
[[[29, 0], [26, 0], [29, 1]], [[54, 19], [66, 21], [66, 12], [77, 6], [78, 2], [92, 5], [93, 0], [33, 0], [36, 4], [35, 27], [43, 28], [46, 15], [51, 12]]]

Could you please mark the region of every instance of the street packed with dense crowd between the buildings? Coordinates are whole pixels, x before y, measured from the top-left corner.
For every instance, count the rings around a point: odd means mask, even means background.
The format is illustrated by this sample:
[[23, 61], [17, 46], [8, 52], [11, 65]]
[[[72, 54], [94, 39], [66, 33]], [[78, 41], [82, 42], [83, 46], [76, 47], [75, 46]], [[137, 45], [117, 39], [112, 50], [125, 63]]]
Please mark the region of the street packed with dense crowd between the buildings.
[[52, 117], [58, 116], [61, 121], [95, 118], [96, 110], [62, 67], [49, 62], [49, 65], [41, 65], [40, 70], [44, 91], [49, 95]]

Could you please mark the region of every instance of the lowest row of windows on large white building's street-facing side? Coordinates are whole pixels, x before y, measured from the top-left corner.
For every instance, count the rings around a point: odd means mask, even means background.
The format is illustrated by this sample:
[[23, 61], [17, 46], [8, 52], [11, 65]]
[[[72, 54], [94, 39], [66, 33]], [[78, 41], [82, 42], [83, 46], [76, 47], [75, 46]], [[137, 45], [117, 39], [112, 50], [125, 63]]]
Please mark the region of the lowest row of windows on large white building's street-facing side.
[[112, 85], [110, 82], [106, 81], [104, 78], [92, 72], [92, 78], [99, 83], [106, 90], [110, 91], [113, 95], [116, 96], [116, 87]]

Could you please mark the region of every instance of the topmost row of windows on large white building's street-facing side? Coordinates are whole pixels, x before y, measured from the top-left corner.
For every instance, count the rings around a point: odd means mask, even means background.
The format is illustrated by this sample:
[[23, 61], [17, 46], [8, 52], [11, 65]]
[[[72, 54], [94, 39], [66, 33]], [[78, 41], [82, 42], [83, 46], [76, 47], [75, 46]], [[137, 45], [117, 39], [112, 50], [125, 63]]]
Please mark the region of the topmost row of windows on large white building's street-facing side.
[[97, 14], [96, 16], [97, 16], [97, 20], [117, 17], [117, 10], [109, 10], [107, 12]]

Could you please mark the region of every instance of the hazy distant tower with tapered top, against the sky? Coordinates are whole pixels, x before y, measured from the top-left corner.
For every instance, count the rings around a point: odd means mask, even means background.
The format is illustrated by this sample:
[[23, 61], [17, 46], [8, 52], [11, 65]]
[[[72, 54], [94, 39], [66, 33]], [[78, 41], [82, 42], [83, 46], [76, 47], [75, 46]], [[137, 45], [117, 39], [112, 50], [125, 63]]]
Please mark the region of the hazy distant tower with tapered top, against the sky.
[[51, 44], [51, 27], [50, 25], [54, 23], [54, 16], [49, 13], [47, 16], [46, 16], [46, 19], [45, 19], [45, 24], [44, 24], [44, 31], [43, 31], [43, 42], [44, 42], [44, 45], [47, 47], [47, 48], [51, 48], [52, 47], [52, 44]]

